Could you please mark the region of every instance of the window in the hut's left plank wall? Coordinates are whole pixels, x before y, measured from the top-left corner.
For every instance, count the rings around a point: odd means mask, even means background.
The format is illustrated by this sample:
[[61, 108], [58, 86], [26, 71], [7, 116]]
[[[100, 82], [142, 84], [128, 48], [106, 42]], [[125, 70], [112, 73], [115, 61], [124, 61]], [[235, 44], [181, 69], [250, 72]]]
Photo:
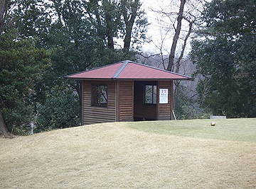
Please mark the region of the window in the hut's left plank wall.
[[92, 105], [107, 106], [107, 85], [92, 85]]

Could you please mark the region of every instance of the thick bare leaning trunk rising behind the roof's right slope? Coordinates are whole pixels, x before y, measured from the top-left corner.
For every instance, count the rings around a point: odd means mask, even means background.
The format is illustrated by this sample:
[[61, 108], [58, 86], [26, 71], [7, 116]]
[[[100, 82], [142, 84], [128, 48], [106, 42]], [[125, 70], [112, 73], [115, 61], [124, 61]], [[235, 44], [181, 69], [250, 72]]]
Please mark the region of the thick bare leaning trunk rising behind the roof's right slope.
[[181, 33], [181, 21], [183, 18], [183, 10], [184, 10], [185, 3], [186, 3], [186, 0], [181, 0], [181, 5], [178, 11], [177, 28], [175, 29], [174, 40], [172, 42], [171, 52], [169, 55], [169, 64], [167, 67], [167, 70], [169, 71], [174, 71], [174, 56], [175, 56], [175, 50], [178, 42], [178, 36]]

